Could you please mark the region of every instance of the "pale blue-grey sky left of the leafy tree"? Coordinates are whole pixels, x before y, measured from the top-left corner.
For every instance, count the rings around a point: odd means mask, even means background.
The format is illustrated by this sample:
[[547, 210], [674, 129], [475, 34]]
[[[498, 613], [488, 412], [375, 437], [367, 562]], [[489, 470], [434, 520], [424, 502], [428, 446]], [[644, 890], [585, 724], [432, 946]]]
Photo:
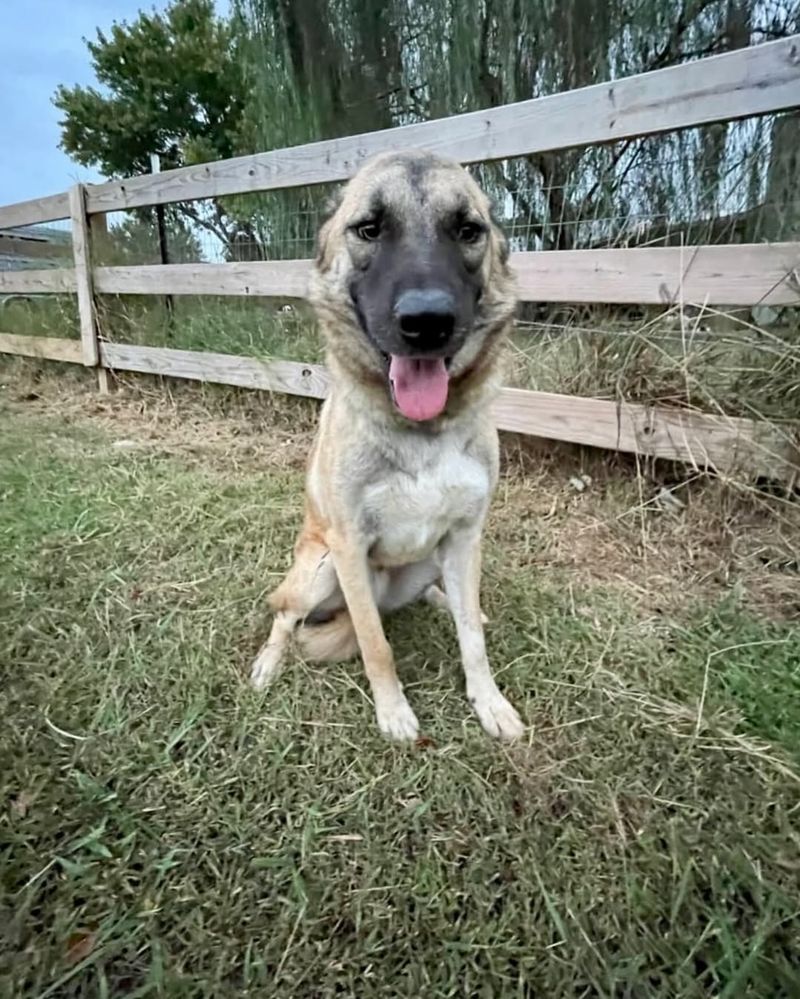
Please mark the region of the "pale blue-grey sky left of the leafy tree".
[[[0, 0], [0, 204], [99, 180], [58, 148], [60, 83], [93, 82], [83, 41], [167, 0]], [[218, 7], [227, 7], [219, 2]]]

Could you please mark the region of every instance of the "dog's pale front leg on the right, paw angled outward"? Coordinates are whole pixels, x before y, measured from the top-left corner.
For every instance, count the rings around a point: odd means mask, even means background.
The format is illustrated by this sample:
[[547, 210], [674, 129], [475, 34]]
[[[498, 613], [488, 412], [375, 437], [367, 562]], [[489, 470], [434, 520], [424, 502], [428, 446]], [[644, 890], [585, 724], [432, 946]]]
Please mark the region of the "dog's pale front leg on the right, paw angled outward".
[[510, 740], [525, 728], [489, 669], [481, 625], [480, 545], [480, 534], [474, 531], [451, 534], [442, 545], [442, 575], [456, 623], [469, 702], [489, 735]]

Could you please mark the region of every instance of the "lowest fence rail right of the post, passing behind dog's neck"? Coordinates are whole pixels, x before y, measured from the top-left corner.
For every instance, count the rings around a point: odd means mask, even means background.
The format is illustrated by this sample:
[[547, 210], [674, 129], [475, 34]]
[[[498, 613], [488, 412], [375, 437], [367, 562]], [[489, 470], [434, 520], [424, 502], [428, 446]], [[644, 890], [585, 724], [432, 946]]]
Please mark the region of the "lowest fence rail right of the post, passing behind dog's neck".
[[[101, 353], [103, 363], [118, 371], [315, 399], [324, 398], [330, 387], [327, 371], [316, 364], [110, 343], [101, 344]], [[508, 388], [501, 391], [493, 412], [501, 430], [684, 461], [698, 468], [789, 478], [800, 463], [800, 454], [785, 435], [752, 420]]]

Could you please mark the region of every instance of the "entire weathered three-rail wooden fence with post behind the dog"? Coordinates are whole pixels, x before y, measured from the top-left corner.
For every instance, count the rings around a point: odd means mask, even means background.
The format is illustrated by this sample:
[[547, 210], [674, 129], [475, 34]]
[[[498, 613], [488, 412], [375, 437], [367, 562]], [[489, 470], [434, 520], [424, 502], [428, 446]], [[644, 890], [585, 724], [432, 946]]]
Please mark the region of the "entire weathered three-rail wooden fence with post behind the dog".
[[[258, 153], [160, 174], [76, 185], [0, 207], [0, 228], [70, 219], [74, 268], [0, 273], [0, 294], [77, 294], [80, 341], [0, 334], [0, 351], [94, 367], [323, 397], [325, 369], [292, 361], [103, 339], [96, 296], [303, 298], [310, 261], [96, 267], [92, 219], [107, 212], [339, 181], [386, 150], [424, 148], [463, 163], [613, 142], [800, 106], [800, 35], [687, 65], [438, 121]], [[800, 304], [800, 243], [517, 253], [520, 298], [753, 306]], [[720, 471], [794, 477], [796, 428], [682, 409], [503, 389], [501, 429], [677, 459]]]

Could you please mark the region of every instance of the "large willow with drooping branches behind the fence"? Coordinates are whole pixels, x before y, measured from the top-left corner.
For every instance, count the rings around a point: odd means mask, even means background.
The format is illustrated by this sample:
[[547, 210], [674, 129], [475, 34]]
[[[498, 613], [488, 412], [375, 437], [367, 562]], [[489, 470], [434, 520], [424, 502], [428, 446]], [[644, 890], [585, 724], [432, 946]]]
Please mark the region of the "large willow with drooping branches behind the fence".
[[[796, 5], [777, 0], [236, 0], [235, 11], [250, 140], [263, 149], [558, 93], [800, 29]], [[542, 152], [483, 167], [481, 179], [520, 247], [728, 238], [766, 197], [772, 127]], [[272, 252], [308, 252], [319, 193], [262, 205]]]

